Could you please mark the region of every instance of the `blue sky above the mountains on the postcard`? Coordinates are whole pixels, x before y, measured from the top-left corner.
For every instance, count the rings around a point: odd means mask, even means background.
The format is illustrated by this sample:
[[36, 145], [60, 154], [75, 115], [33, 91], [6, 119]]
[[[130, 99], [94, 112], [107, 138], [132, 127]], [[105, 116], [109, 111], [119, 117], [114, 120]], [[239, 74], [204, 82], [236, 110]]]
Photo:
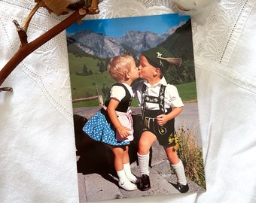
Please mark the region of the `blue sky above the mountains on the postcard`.
[[151, 31], [163, 34], [172, 26], [177, 26], [181, 21], [187, 21], [189, 16], [178, 14], [162, 14], [146, 17], [111, 18], [103, 20], [83, 20], [81, 25], [74, 23], [66, 29], [67, 34], [72, 34], [83, 29], [90, 29], [93, 32], [103, 35], [120, 38], [126, 31]]

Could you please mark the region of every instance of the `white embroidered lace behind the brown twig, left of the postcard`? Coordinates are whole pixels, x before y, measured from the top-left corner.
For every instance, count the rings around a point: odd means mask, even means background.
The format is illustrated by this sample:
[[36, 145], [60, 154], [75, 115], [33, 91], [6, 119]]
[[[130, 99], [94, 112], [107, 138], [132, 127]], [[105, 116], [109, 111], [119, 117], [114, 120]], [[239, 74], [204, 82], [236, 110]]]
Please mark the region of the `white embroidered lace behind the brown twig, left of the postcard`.
[[[13, 15], [14, 11], [8, 12], [8, 14], [0, 13], [0, 23], [5, 27], [4, 30], [0, 30], [1, 35], [5, 35], [7, 41], [1, 41], [8, 48], [8, 54], [2, 53], [1, 56], [5, 56], [6, 62], [16, 52], [20, 42], [19, 38], [14, 35], [15, 26], [11, 22], [17, 20], [20, 25], [26, 19], [27, 14], [31, 11], [35, 3], [33, 1], [17, 0], [16, 2], [1, 1], [2, 4], [11, 5], [12, 8], [20, 8], [20, 12], [23, 12], [24, 18], [17, 18]], [[37, 11], [32, 22], [29, 24], [28, 29], [28, 41], [32, 41], [47, 29], [59, 23], [61, 19], [55, 15], [50, 15], [46, 9], [40, 8]], [[45, 22], [45, 23], [42, 23]], [[44, 26], [45, 24], [45, 26]], [[12, 32], [13, 31], [13, 32]], [[4, 39], [4, 38], [1, 38]], [[1, 50], [4, 52], [5, 50]], [[35, 61], [33, 58], [35, 55], [40, 55], [40, 61]], [[49, 58], [49, 56], [51, 56]], [[5, 61], [1, 60], [1, 65], [5, 65]], [[38, 68], [40, 67], [40, 68]], [[56, 38], [51, 39], [43, 46], [39, 47], [34, 53], [30, 54], [23, 62], [20, 63], [20, 68], [29, 75], [33, 80], [38, 83], [41, 91], [47, 96], [49, 102], [62, 114], [66, 119], [72, 122], [72, 108], [71, 92], [69, 83], [69, 71], [68, 71], [68, 55], [66, 47], [66, 34], [60, 33]], [[12, 84], [9, 83], [8, 86]], [[15, 91], [15, 90], [14, 90]]]

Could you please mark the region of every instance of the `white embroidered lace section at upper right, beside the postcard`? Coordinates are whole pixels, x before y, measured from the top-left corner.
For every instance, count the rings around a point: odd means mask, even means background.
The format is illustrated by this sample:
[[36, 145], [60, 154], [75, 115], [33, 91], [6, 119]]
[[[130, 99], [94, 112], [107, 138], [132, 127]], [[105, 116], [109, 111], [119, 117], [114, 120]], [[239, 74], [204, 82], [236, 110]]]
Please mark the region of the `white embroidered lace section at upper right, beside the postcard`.
[[[233, 49], [242, 32], [248, 14], [255, 5], [253, 1], [222, 1], [209, 14], [206, 25], [200, 26], [194, 23], [194, 54], [196, 68], [225, 77], [242, 88], [256, 92], [256, 82], [243, 71], [238, 72], [231, 68], [221, 68], [220, 65], [228, 65]], [[211, 62], [207, 62], [207, 61]], [[214, 62], [214, 63], [212, 63]]]

